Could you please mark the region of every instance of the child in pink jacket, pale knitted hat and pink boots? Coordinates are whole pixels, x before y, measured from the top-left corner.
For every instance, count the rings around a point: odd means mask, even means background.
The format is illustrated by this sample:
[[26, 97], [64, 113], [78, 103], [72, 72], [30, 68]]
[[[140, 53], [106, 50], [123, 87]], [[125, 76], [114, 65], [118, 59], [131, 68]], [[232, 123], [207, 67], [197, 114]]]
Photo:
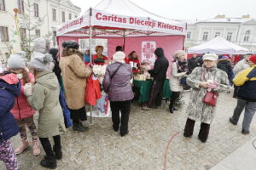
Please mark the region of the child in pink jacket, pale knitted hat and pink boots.
[[33, 120], [33, 115], [36, 111], [32, 110], [32, 107], [28, 104], [26, 95], [24, 94], [25, 84], [34, 82], [34, 76], [31, 72], [25, 69], [25, 62], [21, 59], [20, 54], [11, 55], [8, 59], [8, 66], [9, 71], [15, 73], [21, 82], [20, 96], [15, 99], [15, 105], [10, 111], [15, 116], [18, 127], [20, 128], [20, 138], [22, 142], [20, 147], [15, 150], [15, 153], [19, 155], [29, 147], [26, 135], [26, 127], [28, 127], [32, 135], [33, 155], [38, 156], [40, 154], [38, 131]]

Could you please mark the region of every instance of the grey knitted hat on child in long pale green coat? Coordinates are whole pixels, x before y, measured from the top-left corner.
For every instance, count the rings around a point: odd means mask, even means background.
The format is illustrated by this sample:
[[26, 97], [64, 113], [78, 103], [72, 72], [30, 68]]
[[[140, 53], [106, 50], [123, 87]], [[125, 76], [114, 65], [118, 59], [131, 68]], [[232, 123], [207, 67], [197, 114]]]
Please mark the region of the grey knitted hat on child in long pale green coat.
[[49, 65], [53, 61], [51, 54], [44, 55], [34, 55], [34, 57], [29, 62], [29, 66], [31, 66], [36, 71], [48, 71]]

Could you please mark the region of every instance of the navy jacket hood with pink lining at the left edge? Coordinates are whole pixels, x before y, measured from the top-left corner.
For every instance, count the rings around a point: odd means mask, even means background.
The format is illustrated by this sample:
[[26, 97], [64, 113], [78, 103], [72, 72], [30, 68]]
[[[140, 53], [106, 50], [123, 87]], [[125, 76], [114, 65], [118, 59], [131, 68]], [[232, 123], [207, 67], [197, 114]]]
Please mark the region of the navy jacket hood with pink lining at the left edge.
[[20, 95], [21, 83], [15, 74], [7, 74], [0, 77], [0, 87], [6, 88], [15, 97]]

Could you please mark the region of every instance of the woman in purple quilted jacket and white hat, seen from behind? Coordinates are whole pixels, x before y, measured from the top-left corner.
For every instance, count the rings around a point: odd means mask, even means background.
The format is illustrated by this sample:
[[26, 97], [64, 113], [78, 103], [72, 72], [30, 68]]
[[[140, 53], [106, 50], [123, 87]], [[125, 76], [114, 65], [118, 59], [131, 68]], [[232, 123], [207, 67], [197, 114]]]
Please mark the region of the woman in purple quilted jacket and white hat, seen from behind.
[[103, 80], [103, 88], [108, 93], [110, 108], [112, 111], [113, 130], [119, 130], [119, 111], [121, 111], [120, 135], [129, 133], [128, 122], [131, 111], [131, 90], [132, 71], [131, 66], [125, 64], [125, 54], [121, 51], [113, 54], [112, 65], [108, 65], [106, 75]]

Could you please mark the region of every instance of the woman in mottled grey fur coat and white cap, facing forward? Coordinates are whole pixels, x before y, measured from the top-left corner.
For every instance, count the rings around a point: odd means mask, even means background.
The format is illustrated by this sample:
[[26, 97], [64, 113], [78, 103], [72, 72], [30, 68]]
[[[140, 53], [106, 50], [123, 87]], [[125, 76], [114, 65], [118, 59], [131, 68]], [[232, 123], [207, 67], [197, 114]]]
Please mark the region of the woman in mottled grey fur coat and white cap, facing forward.
[[189, 106], [187, 110], [188, 119], [184, 129], [184, 137], [193, 135], [195, 121], [201, 122], [198, 138], [201, 142], [207, 142], [210, 124], [215, 116], [216, 107], [203, 102], [207, 90], [220, 93], [230, 89], [228, 75], [217, 68], [216, 54], [205, 54], [204, 65], [197, 67], [187, 78], [187, 83], [192, 87]]

